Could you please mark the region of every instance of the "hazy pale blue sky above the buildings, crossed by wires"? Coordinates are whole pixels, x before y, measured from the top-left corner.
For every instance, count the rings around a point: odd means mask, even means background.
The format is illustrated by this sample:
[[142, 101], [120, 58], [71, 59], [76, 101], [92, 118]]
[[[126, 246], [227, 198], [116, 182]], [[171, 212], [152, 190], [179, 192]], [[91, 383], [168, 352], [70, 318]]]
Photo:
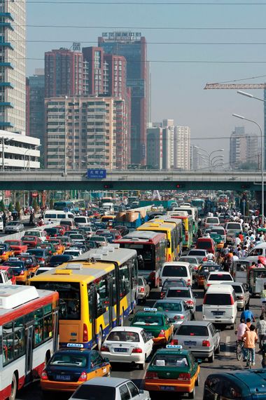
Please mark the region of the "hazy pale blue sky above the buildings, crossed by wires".
[[[36, 67], [43, 67], [45, 51], [69, 48], [72, 41], [94, 46], [102, 32], [128, 30], [120, 29], [127, 27], [141, 32], [148, 42], [153, 121], [174, 119], [176, 125], [190, 126], [192, 144], [208, 151], [224, 147], [226, 153], [235, 126], [244, 125], [246, 132], [258, 133], [255, 125], [235, 119], [233, 112], [255, 119], [263, 126], [262, 102], [244, 98], [232, 90], [204, 91], [203, 88], [207, 82], [245, 78], [248, 79], [244, 83], [266, 81], [266, 1], [262, 4], [263, 0], [202, 0], [200, 4], [200, 0], [176, 0], [178, 5], [165, 4], [162, 0], [162, 5], [145, 5], [141, 1], [128, 4], [129, 0], [125, 0], [125, 4], [100, 4], [100, 1], [90, 4], [90, 0], [87, 4], [78, 4], [78, 1], [56, 4], [56, 1], [29, 0], [27, 5], [27, 25], [36, 25], [27, 27], [27, 74], [33, 74]], [[175, 0], [170, 1], [174, 3]], [[229, 4], [222, 5], [222, 2]], [[237, 63], [225, 63], [228, 61]], [[265, 76], [251, 79], [260, 75]], [[263, 97], [263, 91], [251, 93]], [[227, 154], [225, 157], [228, 159]]]

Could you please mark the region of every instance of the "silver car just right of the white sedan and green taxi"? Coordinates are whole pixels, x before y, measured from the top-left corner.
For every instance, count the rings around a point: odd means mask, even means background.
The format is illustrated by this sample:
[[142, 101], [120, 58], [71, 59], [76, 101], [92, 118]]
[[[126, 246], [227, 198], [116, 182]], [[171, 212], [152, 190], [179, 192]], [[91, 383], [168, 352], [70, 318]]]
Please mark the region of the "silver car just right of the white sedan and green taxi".
[[219, 332], [209, 321], [187, 321], [178, 328], [172, 342], [190, 350], [194, 356], [207, 358], [212, 363], [214, 354], [220, 352]]

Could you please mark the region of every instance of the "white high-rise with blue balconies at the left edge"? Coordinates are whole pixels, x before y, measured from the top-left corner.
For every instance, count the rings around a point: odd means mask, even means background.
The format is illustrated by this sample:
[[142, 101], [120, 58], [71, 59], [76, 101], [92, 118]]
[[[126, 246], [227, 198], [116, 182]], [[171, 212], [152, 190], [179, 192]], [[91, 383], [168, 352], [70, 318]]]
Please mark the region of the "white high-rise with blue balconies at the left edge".
[[2, 0], [0, 42], [0, 129], [26, 131], [26, 2]]

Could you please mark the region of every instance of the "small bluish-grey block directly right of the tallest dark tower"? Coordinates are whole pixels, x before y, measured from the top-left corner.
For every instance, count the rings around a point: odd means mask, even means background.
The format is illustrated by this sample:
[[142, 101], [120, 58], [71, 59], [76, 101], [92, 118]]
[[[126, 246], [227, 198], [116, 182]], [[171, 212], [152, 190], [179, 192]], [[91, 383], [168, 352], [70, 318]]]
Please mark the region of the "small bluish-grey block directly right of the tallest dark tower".
[[147, 165], [162, 169], [162, 128], [147, 128]]

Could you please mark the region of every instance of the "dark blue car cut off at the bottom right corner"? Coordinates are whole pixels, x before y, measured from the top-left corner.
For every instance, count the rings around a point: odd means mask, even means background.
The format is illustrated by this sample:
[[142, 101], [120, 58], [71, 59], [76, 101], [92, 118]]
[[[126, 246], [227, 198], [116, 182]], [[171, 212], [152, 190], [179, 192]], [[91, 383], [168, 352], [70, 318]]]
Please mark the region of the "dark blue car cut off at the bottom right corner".
[[204, 383], [203, 400], [265, 400], [265, 380], [265, 368], [213, 373]]

